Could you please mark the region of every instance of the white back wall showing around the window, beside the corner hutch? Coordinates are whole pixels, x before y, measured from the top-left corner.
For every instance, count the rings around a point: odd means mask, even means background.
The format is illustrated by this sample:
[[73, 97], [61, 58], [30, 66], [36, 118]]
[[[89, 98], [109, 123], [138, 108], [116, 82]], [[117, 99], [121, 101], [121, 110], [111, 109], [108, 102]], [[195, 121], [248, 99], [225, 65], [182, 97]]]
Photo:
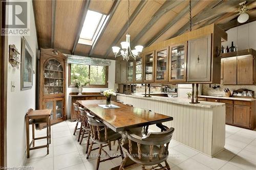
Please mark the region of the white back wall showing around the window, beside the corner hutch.
[[[116, 75], [116, 61], [111, 60], [111, 65], [109, 66], [109, 87], [108, 88], [83, 88], [82, 92], [100, 92], [100, 90], [106, 90], [106, 89], [115, 89], [115, 75]], [[67, 80], [68, 80], [68, 64], [67, 64]], [[70, 115], [70, 105], [71, 105], [71, 99], [69, 97], [70, 92], [78, 92], [78, 89], [76, 87], [69, 88], [68, 81], [67, 81], [67, 116], [69, 118]]]

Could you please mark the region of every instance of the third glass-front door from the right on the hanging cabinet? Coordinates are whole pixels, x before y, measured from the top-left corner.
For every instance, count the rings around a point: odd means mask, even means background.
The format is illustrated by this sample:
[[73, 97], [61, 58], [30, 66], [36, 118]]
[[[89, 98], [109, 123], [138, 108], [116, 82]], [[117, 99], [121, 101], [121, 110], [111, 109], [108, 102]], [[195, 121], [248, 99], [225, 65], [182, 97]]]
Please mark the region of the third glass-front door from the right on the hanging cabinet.
[[154, 82], [155, 51], [144, 55], [144, 78], [143, 82]]

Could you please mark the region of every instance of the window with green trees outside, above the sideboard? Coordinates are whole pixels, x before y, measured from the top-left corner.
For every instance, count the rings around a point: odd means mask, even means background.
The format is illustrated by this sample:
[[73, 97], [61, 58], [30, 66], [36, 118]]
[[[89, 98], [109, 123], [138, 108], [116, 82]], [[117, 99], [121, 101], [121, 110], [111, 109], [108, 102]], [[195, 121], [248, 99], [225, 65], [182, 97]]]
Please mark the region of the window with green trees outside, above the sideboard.
[[90, 79], [87, 87], [108, 87], [108, 66], [69, 64], [69, 87], [74, 87], [74, 76], [82, 84]]

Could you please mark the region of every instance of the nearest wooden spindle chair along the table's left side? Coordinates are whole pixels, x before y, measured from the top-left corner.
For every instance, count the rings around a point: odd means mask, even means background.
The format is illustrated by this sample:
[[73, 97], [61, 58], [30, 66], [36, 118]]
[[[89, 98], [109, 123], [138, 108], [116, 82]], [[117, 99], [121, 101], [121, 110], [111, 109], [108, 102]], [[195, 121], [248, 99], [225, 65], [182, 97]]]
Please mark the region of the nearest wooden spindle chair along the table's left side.
[[[90, 125], [90, 129], [91, 129], [91, 140], [92, 140], [90, 143], [87, 159], [89, 158], [91, 151], [95, 150], [95, 149], [92, 149], [93, 144], [94, 143], [99, 144], [99, 148], [96, 148], [96, 149], [99, 149], [96, 170], [99, 169], [100, 162], [104, 162], [106, 160], [112, 160], [112, 159], [118, 158], [120, 156], [123, 159], [123, 152], [122, 152], [122, 149], [120, 149], [121, 155], [111, 157], [108, 154], [108, 158], [100, 160], [101, 152], [103, 151], [104, 153], [106, 153], [104, 151], [103, 147], [108, 146], [111, 141], [117, 140], [118, 145], [121, 148], [121, 145], [120, 145], [121, 134], [116, 133], [113, 130], [111, 130], [110, 128], [106, 127], [102, 122], [100, 122], [95, 116], [93, 116], [89, 112], [87, 112], [87, 118], [88, 118], [88, 124]], [[103, 144], [105, 144], [105, 145], [103, 145]]]

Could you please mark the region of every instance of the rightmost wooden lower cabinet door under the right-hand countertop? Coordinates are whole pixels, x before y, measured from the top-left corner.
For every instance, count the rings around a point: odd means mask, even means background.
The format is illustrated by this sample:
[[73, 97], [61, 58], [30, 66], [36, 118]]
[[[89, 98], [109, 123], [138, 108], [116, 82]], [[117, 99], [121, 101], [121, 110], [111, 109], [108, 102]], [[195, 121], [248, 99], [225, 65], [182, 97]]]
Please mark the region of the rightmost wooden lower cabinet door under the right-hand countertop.
[[233, 124], [250, 128], [250, 106], [234, 105]]

